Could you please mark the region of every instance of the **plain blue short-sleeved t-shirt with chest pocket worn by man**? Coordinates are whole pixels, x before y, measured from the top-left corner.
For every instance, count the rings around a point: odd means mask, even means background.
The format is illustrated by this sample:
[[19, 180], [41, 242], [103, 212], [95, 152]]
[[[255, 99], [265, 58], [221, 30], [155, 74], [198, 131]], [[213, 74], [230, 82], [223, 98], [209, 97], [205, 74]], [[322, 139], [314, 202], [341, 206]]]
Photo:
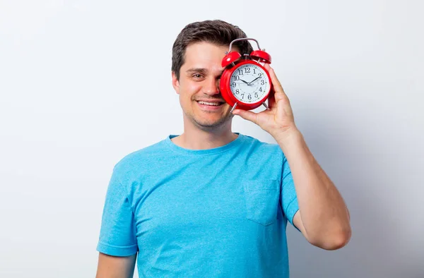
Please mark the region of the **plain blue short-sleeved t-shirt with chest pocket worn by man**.
[[173, 137], [115, 165], [97, 250], [139, 252], [139, 277], [289, 277], [298, 200], [281, 148], [239, 134], [187, 150]]

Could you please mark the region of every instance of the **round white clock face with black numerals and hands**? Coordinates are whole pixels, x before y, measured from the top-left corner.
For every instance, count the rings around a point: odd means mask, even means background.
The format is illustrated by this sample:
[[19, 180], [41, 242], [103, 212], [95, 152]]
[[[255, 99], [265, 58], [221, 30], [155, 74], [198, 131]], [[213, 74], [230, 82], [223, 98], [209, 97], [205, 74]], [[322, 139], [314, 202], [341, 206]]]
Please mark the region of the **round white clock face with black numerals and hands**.
[[263, 68], [255, 64], [243, 64], [230, 77], [230, 89], [238, 101], [256, 103], [269, 92], [270, 80]]

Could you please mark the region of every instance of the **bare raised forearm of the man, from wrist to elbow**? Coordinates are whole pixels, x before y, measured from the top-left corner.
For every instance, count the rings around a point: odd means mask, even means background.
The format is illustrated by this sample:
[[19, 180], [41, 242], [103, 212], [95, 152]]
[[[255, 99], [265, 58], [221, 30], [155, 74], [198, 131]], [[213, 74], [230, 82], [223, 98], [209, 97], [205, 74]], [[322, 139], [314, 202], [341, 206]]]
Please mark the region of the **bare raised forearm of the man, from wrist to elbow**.
[[317, 246], [329, 242], [346, 244], [351, 236], [346, 204], [310, 152], [302, 134], [293, 131], [276, 140], [293, 175], [307, 240]]

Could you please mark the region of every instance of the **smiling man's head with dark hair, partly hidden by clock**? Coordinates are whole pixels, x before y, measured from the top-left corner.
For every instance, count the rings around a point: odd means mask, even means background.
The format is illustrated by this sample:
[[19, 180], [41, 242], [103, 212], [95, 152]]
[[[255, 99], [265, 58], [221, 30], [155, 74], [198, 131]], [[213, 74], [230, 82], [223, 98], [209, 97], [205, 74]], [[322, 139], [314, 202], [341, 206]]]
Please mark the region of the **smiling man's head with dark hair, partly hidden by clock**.
[[[245, 32], [222, 20], [191, 23], [179, 33], [172, 47], [172, 85], [179, 94], [184, 121], [206, 130], [231, 119], [231, 107], [219, 91], [220, 64], [230, 42], [242, 37]], [[241, 54], [253, 50], [247, 40], [232, 46]]]

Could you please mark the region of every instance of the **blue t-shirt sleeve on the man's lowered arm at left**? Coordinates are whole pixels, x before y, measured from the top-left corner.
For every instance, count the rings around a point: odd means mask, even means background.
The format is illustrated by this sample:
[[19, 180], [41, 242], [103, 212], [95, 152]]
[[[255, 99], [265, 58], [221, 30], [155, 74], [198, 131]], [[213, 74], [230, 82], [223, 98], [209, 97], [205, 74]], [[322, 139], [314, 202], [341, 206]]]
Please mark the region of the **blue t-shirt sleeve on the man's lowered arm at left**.
[[115, 170], [107, 187], [96, 250], [114, 256], [134, 255], [139, 250], [134, 213], [126, 188], [119, 181]]

